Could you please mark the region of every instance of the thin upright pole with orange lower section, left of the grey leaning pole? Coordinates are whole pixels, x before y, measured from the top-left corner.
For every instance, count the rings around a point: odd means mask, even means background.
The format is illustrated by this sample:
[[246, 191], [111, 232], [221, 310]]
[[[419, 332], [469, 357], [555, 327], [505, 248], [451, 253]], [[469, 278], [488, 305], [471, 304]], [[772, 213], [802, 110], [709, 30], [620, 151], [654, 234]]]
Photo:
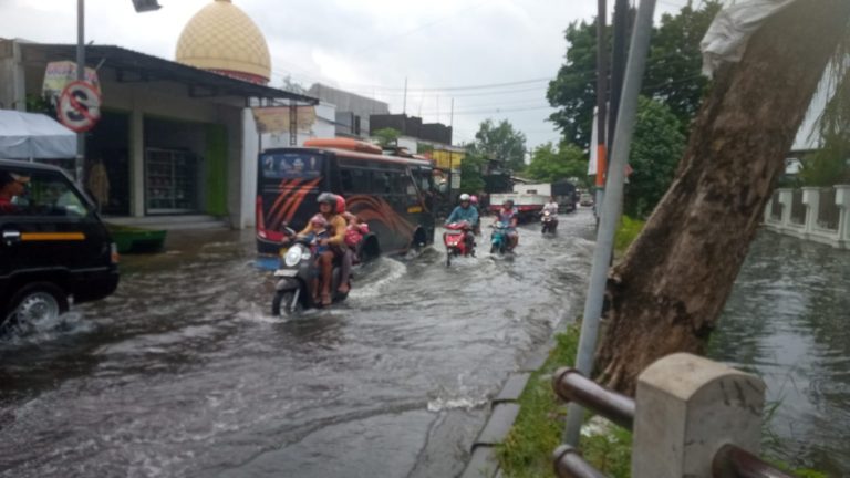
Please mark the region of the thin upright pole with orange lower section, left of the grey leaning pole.
[[599, 9], [597, 13], [597, 211], [600, 210], [605, 198], [605, 172], [608, 170], [608, 148], [605, 146], [605, 129], [608, 129], [605, 122], [605, 113], [608, 112], [607, 3], [608, 0], [598, 0], [597, 3]]

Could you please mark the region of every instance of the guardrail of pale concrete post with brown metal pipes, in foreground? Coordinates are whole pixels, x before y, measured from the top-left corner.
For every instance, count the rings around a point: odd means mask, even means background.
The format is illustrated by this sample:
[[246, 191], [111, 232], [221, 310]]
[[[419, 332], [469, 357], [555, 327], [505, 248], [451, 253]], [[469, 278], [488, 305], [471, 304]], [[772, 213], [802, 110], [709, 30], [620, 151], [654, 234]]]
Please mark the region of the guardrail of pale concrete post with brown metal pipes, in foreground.
[[[757, 457], [765, 386], [753, 375], [674, 354], [641, 374], [634, 399], [574, 368], [558, 370], [552, 386], [633, 432], [633, 478], [794, 478]], [[554, 450], [553, 465], [561, 478], [604, 478], [569, 445]]]

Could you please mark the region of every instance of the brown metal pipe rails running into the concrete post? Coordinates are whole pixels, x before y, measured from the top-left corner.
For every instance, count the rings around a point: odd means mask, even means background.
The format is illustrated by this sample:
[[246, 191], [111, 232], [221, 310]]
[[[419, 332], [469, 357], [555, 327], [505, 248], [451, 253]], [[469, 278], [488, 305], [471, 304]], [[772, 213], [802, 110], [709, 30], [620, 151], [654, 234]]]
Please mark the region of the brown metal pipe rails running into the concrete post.
[[[633, 398], [604, 388], [569, 367], [556, 372], [552, 387], [561, 399], [576, 402], [625, 429], [632, 429], [636, 409]], [[569, 445], [554, 450], [553, 461], [554, 474], [560, 478], [605, 477]], [[714, 478], [795, 478], [735, 445], [724, 445], [714, 455], [712, 474]]]

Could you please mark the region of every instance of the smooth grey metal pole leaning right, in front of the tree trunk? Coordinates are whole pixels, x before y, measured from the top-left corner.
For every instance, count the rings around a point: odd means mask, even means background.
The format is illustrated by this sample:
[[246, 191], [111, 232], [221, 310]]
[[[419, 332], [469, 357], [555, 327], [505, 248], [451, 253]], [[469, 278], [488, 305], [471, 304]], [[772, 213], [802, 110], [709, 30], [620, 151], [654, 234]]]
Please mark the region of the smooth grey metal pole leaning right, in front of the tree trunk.
[[[615, 143], [607, 181], [605, 193], [608, 197], [601, 208], [597, 247], [593, 250], [593, 266], [590, 271], [590, 284], [588, 285], [588, 297], [584, 300], [579, 350], [576, 356], [576, 368], [584, 376], [590, 376], [593, 370], [593, 355], [599, 337], [599, 321], [602, 316], [608, 268], [614, 249], [614, 231], [620, 221], [625, 165], [629, 160], [632, 134], [638, 116], [638, 96], [641, 94], [643, 74], [646, 70], [654, 12], [655, 0], [641, 0], [632, 33], [632, 44], [629, 50], [620, 115], [616, 118]], [[567, 426], [563, 430], [564, 443], [578, 446], [583, 418], [584, 413], [581, 405], [571, 403], [567, 414]]]

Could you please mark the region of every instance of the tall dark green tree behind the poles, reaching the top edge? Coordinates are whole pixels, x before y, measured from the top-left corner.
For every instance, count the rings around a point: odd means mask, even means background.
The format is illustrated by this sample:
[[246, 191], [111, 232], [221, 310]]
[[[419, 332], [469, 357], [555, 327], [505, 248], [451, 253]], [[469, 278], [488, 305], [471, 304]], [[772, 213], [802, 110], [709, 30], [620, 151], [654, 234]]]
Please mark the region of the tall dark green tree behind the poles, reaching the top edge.
[[[698, 9], [688, 2], [677, 14], [664, 14], [653, 31], [643, 94], [666, 103], [678, 118], [683, 133], [696, 115], [707, 85], [707, 80], [699, 74], [699, 41], [721, 7], [716, 0], [706, 0]], [[567, 141], [587, 149], [597, 104], [595, 21], [571, 23], [564, 38], [566, 62], [547, 91], [549, 103], [559, 110], [549, 119]], [[611, 38], [609, 27], [609, 51]]]

